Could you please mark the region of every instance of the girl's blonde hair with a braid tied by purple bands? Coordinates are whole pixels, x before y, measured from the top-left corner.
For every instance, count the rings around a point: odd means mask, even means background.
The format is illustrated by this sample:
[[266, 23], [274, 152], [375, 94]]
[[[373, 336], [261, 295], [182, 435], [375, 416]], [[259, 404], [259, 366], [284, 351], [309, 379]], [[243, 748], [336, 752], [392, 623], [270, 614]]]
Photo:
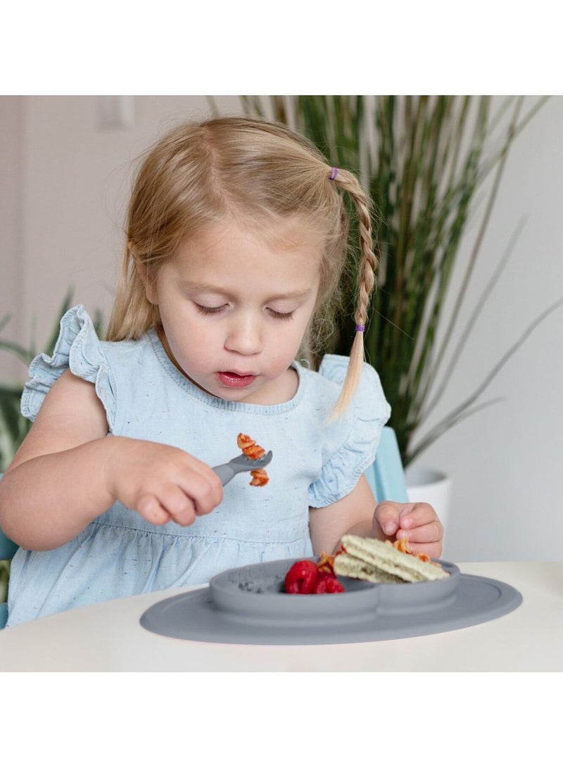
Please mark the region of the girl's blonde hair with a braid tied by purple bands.
[[[336, 173], [336, 176], [335, 176]], [[355, 319], [366, 324], [373, 290], [369, 200], [356, 177], [333, 169], [306, 138], [282, 124], [250, 118], [215, 118], [175, 127], [144, 157], [131, 194], [121, 279], [108, 325], [111, 341], [137, 339], [161, 325], [158, 307], [147, 300], [141, 274], [151, 280], [174, 257], [185, 237], [227, 216], [260, 232], [298, 217], [321, 237], [320, 289], [306, 345], [330, 327], [339, 296], [349, 234], [343, 195], [356, 209], [359, 269]], [[249, 223], [250, 222], [250, 223]], [[363, 364], [363, 333], [357, 332], [336, 413], [356, 390]]]

